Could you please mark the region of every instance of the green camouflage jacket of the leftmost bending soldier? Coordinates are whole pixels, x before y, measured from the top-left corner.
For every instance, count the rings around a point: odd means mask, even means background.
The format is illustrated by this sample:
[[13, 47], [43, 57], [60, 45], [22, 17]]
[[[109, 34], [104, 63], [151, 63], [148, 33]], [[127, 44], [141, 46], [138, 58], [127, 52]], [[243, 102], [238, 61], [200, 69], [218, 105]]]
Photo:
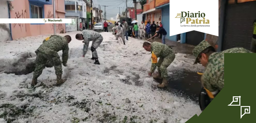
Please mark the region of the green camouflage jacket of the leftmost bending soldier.
[[[54, 55], [53, 57], [60, 57], [57, 56], [57, 52], [62, 50], [62, 61], [63, 64], [66, 64], [68, 61], [68, 42], [65, 37], [59, 35], [52, 35], [46, 39], [44, 39], [43, 44], [39, 46], [37, 51], [48, 55]], [[55, 56], [56, 55], [56, 56]]]

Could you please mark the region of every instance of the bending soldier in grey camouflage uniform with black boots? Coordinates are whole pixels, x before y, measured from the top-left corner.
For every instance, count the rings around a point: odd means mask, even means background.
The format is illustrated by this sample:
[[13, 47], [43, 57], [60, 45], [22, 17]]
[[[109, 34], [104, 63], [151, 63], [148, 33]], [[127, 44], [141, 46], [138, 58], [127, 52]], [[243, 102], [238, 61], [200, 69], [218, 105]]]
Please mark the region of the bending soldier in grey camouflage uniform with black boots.
[[94, 64], [99, 65], [99, 59], [98, 54], [96, 52], [96, 49], [99, 47], [101, 42], [103, 41], [103, 37], [100, 33], [92, 31], [92, 30], [83, 30], [82, 34], [77, 34], [75, 36], [77, 40], [84, 40], [84, 50], [83, 50], [83, 56], [88, 51], [89, 42], [92, 41], [91, 51], [92, 51], [92, 60], [95, 59]]

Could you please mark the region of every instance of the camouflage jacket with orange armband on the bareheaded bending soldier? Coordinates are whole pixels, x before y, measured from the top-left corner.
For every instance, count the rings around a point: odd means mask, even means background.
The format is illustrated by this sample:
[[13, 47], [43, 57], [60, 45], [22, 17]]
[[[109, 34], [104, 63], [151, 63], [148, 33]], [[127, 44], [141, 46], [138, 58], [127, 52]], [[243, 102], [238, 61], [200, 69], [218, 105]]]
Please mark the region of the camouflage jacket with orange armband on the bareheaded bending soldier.
[[160, 42], [151, 43], [151, 53], [152, 65], [150, 73], [153, 73], [155, 71], [155, 68], [157, 67], [157, 58], [165, 58], [169, 54], [173, 54], [175, 56], [174, 52], [170, 47]]

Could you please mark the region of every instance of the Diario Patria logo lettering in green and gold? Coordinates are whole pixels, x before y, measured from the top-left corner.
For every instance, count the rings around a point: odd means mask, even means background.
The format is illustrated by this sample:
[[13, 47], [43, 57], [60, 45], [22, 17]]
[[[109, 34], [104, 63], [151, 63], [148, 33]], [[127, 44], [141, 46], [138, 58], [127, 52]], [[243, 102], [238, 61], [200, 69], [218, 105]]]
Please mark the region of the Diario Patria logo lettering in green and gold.
[[[210, 20], [205, 20], [205, 13], [188, 13], [186, 12], [181, 12], [178, 13], [175, 18], [181, 18], [181, 23], [186, 22], [186, 24], [210, 24]], [[192, 18], [192, 19], [191, 19]], [[194, 19], [196, 18], [196, 19]], [[199, 27], [199, 26], [205, 26], [205, 27], [210, 27], [210, 25], [181, 25], [181, 27]]]

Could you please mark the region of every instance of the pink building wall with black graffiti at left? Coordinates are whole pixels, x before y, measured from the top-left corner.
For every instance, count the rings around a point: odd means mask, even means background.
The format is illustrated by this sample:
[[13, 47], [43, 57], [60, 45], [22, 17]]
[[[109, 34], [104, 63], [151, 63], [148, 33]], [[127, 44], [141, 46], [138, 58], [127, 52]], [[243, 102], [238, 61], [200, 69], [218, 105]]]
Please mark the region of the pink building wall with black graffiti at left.
[[[11, 18], [30, 18], [29, 1], [28, 0], [14, 0], [11, 10]], [[64, 0], [55, 1], [56, 18], [65, 18], [65, 5]], [[44, 5], [44, 18], [53, 18], [53, 5]], [[12, 25], [12, 38], [23, 38], [27, 36], [36, 36], [42, 34], [50, 34], [53, 32], [53, 24], [11, 24]], [[61, 30], [66, 32], [65, 24], [56, 24], [56, 32], [60, 33]]]

